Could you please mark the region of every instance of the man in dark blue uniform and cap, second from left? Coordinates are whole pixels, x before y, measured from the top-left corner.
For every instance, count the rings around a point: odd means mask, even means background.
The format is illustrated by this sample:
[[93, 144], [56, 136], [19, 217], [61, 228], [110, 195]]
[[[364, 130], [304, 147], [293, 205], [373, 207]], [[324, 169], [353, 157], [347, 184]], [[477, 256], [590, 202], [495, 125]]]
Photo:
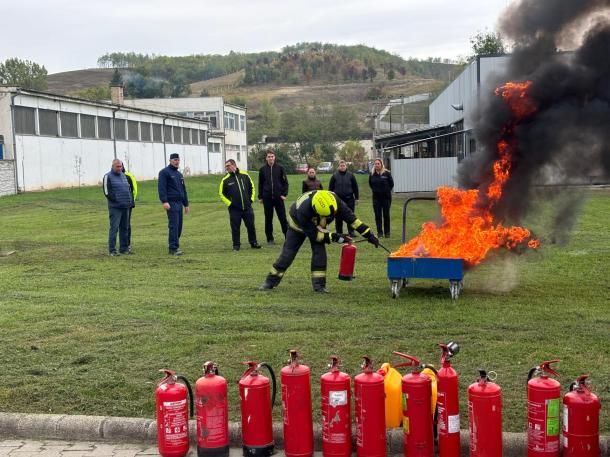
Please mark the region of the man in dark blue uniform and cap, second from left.
[[182, 212], [189, 213], [189, 200], [184, 185], [184, 177], [178, 171], [180, 156], [170, 154], [169, 165], [159, 172], [159, 200], [167, 212], [169, 229], [168, 243], [170, 255], [182, 255], [180, 235], [182, 235]]

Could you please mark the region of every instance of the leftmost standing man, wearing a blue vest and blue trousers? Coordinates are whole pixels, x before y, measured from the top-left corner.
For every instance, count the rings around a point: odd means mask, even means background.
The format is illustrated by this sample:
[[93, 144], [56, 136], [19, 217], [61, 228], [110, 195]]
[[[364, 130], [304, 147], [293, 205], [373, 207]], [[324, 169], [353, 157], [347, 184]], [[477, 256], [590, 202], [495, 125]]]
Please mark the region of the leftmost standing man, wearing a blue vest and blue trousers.
[[[108, 200], [110, 229], [108, 231], [108, 255], [117, 256], [131, 254], [127, 240], [129, 226], [129, 209], [133, 205], [133, 197], [129, 181], [123, 173], [123, 162], [112, 161], [112, 168], [104, 175], [102, 189]], [[116, 250], [116, 234], [119, 233], [119, 252]]]

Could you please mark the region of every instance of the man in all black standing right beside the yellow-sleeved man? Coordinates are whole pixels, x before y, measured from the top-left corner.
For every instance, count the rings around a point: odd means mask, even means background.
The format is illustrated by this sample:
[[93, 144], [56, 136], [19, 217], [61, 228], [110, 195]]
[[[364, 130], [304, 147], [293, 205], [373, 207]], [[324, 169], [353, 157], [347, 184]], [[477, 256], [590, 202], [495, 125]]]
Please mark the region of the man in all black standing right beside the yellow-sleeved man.
[[275, 153], [272, 149], [267, 151], [267, 163], [261, 167], [258, 174], [258, 199], [265, 208], [265, 235], [267, 243], [273, 244], [273, 210], [286, 236], [288, 221], [286, 220], [286, 207], [284, 200], [288, 195], [288, 178], [284, 167], [275, 163]]

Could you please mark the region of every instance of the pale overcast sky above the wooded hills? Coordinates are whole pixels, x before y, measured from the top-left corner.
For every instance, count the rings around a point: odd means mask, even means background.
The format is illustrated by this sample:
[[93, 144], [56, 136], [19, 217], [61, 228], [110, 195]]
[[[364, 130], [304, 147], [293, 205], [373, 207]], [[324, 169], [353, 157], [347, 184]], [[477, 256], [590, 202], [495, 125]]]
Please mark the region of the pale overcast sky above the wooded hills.
[[493, 30], [510, 0], [1, 0], [0, 61], [49, 73], [96, 67], [106, 52], [165, 55], [280, 50], [321, 41], [402, 57], [454, 59]]

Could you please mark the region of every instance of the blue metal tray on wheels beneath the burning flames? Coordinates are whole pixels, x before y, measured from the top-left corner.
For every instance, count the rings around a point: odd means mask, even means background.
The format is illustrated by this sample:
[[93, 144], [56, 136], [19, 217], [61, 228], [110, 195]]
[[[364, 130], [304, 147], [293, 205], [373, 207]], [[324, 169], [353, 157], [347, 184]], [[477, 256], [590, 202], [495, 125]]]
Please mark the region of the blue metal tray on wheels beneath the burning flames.
[[456, 300], [463, 287], [464, 261], [436, 257], [388, 257], [392, 298], [398, 298], [400, 290], [407, 287], [410, 278], [448, 279], [451, 298]]

